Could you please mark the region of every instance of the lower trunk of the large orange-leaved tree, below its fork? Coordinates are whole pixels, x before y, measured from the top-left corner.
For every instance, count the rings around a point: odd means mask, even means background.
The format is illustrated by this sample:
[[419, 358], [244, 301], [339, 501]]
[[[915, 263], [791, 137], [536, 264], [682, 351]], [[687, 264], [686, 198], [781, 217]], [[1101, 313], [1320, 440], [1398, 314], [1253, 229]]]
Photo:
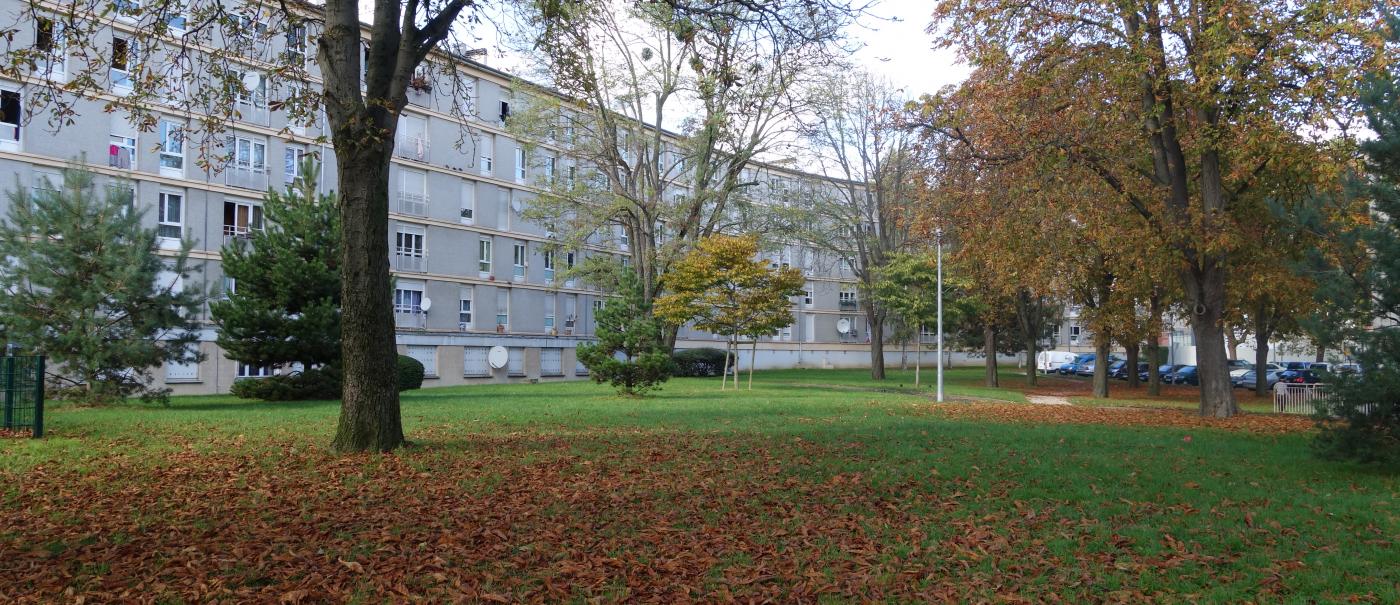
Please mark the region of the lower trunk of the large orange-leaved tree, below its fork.
[[[1205, 255], [1201, 255], [1205, 256]], [[1196, 333], [1196, 367], [1201, 382], [1201, 416], [1231, 417], [1239, 413], [1225, 366], [1225, 269], [1215, 258], [1187, 270], [1183, 280], [1191, 332]]]

